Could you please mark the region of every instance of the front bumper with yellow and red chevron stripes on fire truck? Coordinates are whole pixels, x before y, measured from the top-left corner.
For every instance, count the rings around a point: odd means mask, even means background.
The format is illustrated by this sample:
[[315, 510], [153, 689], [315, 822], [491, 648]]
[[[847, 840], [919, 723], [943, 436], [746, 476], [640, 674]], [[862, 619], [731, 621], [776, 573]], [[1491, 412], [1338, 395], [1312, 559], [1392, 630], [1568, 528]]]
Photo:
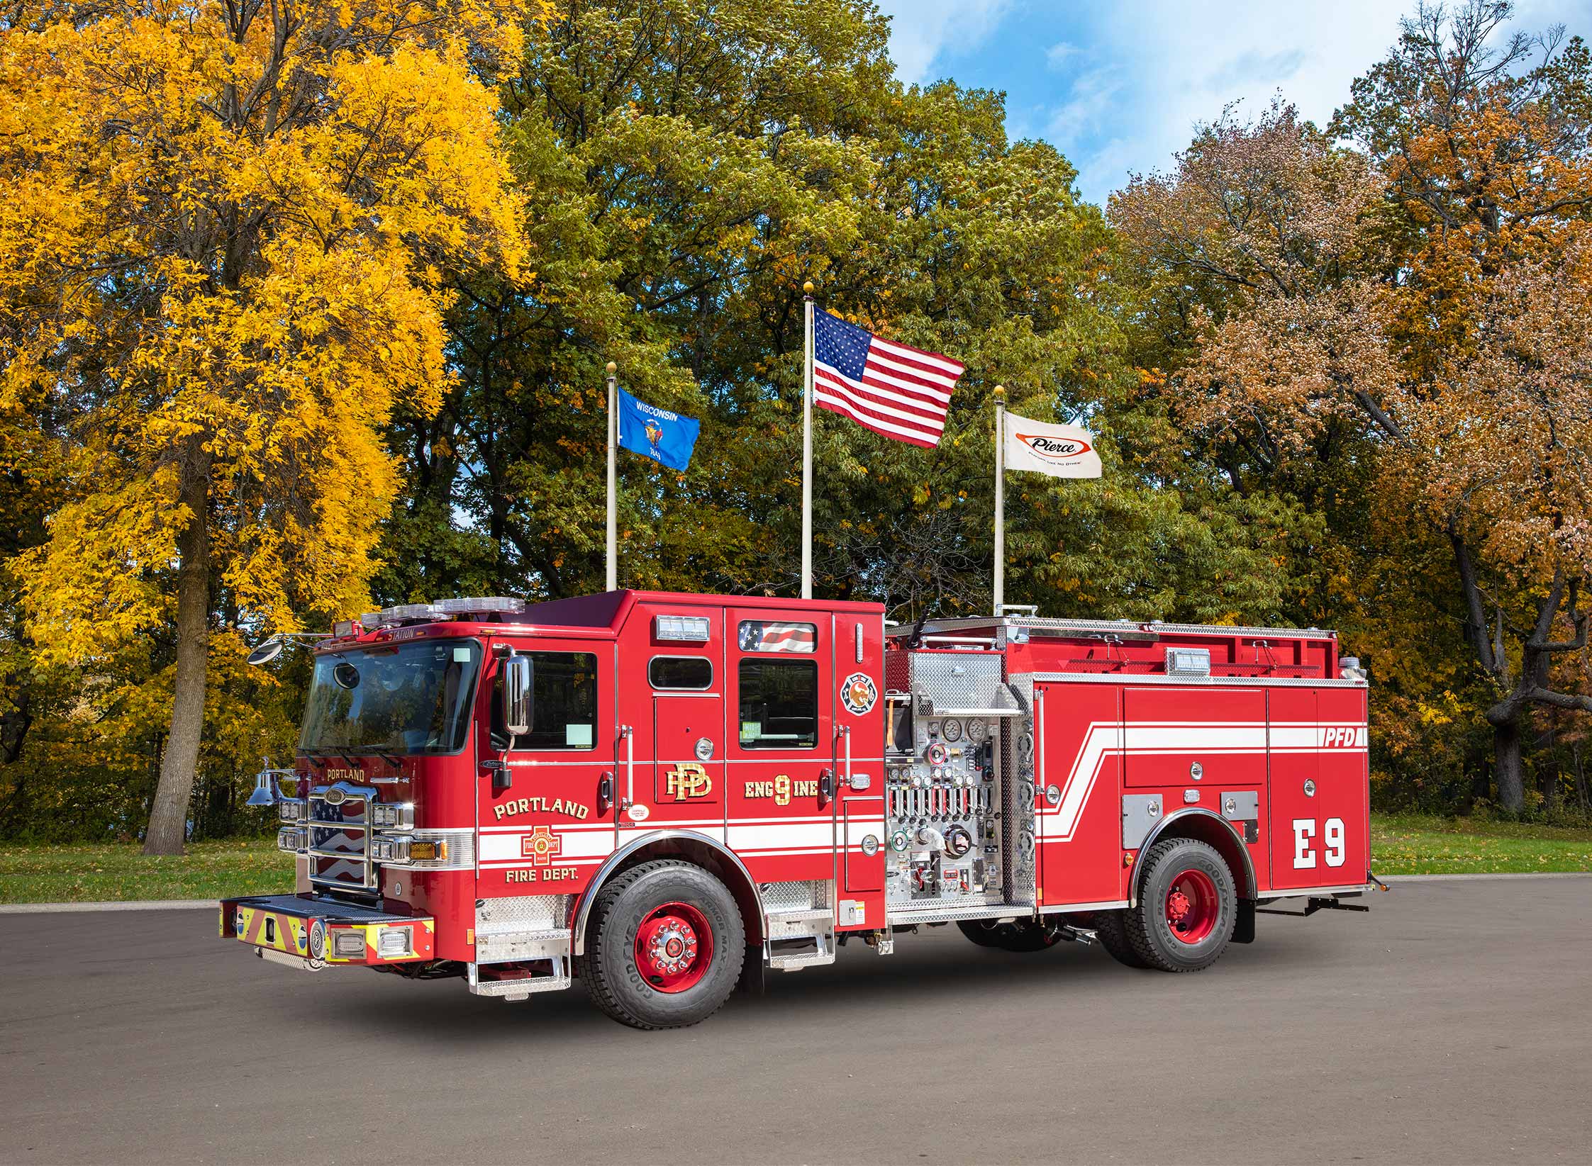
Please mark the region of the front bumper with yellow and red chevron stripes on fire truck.
[[436, 919], [315, 896], [250, 896], [221, 900], [221, 939], [310, 972], [334, 964], [404, 964], [435, 959]]

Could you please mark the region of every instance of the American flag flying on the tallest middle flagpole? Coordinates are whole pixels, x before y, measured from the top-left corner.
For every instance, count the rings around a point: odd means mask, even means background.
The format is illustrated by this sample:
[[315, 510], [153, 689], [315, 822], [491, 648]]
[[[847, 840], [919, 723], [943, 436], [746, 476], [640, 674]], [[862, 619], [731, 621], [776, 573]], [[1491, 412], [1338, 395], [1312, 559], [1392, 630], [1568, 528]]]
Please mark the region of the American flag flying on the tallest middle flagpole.
[[812, 355], [814, 404], [885, 437], [939, 444], [962, 364], [882, 340], [823, 310], [814, 313]]

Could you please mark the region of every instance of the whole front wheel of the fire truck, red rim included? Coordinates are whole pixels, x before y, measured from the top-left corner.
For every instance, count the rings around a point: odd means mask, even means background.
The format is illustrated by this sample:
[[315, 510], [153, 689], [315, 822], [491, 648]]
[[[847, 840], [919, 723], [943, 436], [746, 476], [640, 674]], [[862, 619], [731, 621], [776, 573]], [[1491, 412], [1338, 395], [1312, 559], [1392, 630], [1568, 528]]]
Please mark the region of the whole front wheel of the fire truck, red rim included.
[[643, 862], [592, 904], [581, 978], [603, 1012], [632, 1028], [683, 1028], [729, 999], [747, 929], [729, 889], [689, 862]]

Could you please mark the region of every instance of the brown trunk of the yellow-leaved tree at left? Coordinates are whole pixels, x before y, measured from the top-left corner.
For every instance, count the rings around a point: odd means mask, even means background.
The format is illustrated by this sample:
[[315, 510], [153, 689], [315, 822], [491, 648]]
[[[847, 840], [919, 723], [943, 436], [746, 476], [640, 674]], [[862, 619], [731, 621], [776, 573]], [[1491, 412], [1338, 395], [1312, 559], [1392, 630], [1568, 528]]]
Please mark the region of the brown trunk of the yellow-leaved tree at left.
[[181, 854], [204, 733], [205, 663], [210, 632], [210, 458], [197, 441], [183, 466], [181, 501], [193, 517], [177, 536], [177, 681], [161, 781], [150, 806], [145, 854]]

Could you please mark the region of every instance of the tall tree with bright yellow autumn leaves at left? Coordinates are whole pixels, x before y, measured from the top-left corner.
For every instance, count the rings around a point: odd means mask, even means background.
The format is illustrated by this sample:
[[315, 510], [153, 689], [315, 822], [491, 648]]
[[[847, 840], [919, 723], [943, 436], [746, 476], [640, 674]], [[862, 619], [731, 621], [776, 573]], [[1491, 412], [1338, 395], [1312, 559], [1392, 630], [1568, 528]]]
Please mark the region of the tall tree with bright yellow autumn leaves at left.
[[519, 272], [481, 80], [517, 40], [500, 0], [0, 24], [0, 407], [51, 426], [68, 484], [14, 568], [45, 660], [175, 628], [146, 853], [183, 845], [217, 612], [358, 609], [398, 485], [380, 429], [449, 380], [446, 274]]

